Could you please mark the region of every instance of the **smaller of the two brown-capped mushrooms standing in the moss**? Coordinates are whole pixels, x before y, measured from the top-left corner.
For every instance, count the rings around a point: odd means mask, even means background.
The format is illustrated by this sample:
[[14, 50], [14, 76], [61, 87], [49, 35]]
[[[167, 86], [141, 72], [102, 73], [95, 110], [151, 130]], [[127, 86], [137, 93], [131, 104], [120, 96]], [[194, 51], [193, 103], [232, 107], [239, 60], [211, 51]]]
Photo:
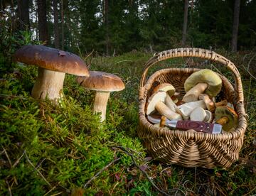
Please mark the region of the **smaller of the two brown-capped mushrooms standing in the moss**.
[[110, 92], [124, 89], [124, 82], [117, 75], [97, 71], [90, 71], [90, 77], [77, 77], [77, 82], [85, 89], [95, 90], [93, 112], [100, 112], [100, 121], [105, 121]]

